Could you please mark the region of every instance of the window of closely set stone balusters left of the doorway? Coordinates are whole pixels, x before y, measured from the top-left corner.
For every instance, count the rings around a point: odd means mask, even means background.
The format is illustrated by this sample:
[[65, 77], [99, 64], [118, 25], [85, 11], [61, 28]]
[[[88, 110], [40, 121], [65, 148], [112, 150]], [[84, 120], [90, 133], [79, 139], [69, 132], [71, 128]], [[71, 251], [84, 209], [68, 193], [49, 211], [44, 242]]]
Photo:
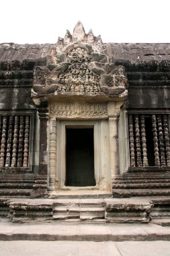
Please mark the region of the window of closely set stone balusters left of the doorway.
[[0, 115], [0, 168], [28, 168], [30, 115]]

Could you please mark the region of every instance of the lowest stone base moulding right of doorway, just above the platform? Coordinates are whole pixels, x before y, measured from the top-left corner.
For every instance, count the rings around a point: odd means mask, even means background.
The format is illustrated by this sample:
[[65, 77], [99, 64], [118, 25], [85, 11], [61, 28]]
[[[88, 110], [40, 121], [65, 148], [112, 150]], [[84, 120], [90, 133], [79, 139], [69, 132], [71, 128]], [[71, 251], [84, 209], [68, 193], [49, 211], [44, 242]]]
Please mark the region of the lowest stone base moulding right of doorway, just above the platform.
[[112, 197], [143, 197], [170, 195], [170, 189], [113, 189]]

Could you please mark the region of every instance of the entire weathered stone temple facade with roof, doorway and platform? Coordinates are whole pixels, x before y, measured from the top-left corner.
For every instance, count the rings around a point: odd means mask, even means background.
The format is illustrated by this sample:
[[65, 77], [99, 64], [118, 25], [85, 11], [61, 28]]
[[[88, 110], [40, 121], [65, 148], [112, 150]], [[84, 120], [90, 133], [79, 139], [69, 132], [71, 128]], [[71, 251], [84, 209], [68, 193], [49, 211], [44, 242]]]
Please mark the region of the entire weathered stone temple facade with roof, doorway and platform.
[[170, 44], [0, 44], [0, 216], [169, 218]]

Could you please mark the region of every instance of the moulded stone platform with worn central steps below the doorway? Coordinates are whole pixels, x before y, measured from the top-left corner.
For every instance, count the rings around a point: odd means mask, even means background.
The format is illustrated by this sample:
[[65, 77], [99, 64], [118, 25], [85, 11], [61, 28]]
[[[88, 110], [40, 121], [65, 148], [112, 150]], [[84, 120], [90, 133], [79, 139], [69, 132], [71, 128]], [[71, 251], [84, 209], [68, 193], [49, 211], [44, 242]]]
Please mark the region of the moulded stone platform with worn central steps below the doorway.
[[[118, 190], [117, 190], [118, 191]], [[169, 197], [168, 197], [169, 198]], [[165, 198], [168, 202], [169, 199]], [[148, 223], [154, 213], [153, 200], [146, 197], [110, 199], [1, 199], [2, 214], [12, 222]], [[160, 199], [157, 203], [163, 201]], [[3, 207], [4, 206], [4, 207]], [[151, 208], [153, 209], [151, 211]], [[166, 209], [165, 209], [166, 210]]]

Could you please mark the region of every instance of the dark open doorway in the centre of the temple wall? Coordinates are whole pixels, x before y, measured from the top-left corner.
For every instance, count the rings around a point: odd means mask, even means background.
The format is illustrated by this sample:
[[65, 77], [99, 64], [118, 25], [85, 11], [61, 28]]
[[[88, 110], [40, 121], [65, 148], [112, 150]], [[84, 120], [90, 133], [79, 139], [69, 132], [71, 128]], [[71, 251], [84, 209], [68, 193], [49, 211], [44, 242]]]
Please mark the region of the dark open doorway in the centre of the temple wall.
[[95, 186], [93, 128], [67, 128], [66, 186]]

